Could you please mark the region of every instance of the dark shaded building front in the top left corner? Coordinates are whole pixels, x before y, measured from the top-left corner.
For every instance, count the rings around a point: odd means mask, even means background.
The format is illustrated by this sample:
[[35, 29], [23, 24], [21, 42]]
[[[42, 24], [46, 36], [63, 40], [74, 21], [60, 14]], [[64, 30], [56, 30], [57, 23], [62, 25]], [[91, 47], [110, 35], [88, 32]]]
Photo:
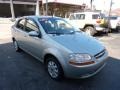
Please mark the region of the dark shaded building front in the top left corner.
[[[10, 1], [10, 0], [0, 0], [0, 1]], [[33, 2], [36, 3], [36, 0], [13, 0], [21, 2]], [[15, 16], [26, 16], [35, 14], [35, 5], [30, 4], [15, 4], [14, 3]], [[10, 3], [0, 3], [0, 17], [11, 17]]]

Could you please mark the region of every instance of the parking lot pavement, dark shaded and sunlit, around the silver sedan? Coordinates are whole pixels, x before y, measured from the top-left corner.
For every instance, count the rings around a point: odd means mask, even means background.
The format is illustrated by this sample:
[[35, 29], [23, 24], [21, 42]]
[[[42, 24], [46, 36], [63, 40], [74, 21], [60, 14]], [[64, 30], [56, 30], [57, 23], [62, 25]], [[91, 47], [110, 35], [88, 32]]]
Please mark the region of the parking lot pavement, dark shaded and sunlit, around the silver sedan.
[[44, 65], [25, 52], [15, 52], [11, 24], [0, 24], [0, 90], [119, 90], [120, 33], [96, 36], [109, 52], [107, 64], [87, 79], [52, 80]]

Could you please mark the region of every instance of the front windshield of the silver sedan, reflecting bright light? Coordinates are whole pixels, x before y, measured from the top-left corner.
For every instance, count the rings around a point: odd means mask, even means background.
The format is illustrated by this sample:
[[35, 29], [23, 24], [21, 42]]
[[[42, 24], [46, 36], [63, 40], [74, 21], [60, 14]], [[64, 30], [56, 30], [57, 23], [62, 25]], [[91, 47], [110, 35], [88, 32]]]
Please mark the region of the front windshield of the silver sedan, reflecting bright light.
[[74, 28], [61, 18], [40, 18], [39, 22], [47, 34], [74, 33]]

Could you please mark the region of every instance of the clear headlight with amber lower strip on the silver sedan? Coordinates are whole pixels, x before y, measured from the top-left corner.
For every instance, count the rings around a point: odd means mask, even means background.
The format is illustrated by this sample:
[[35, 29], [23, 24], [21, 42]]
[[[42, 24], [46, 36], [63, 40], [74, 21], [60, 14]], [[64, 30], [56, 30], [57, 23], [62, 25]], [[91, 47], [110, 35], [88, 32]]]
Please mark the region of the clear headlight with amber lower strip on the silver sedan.
[[70, 54], [69, 63], [72, 65], [88, 65], [94, 63], [89, 54]]

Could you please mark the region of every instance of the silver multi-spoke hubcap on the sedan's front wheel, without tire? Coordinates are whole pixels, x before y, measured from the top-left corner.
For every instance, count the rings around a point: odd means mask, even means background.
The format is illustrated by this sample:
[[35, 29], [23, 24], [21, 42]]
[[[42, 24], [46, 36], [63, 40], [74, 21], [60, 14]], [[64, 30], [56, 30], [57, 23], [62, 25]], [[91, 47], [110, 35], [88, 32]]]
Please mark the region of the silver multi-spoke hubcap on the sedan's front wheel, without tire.
[[48, 62], [48, 72], [52, 78], [58, 77], [58, 67], [55, 62], [49, 61]]

